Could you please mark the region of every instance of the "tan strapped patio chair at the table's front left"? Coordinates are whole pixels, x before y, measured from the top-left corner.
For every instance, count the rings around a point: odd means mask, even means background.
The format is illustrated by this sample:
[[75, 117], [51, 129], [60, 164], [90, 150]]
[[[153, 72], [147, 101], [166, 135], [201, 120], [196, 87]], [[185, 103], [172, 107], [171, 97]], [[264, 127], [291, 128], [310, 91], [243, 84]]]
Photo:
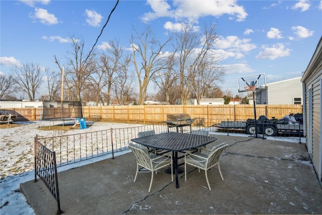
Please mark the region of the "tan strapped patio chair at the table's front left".
[[156, 155], [149, 154], [146, 147], [138, 146], [135, 144], [129, 143], [129, 148], [132, 150], [136, 158], [136, 173], [134, 181], [136, 180], [137, 173], [139, 171], [139, 166], [151, 171], [151, 182], [149, 186], [149, 192], [151, 191], [151, 186], [153, 182], [154, 171], [157, 173], [158, 169], [171, 166], [171, 181], [173, 181], [173, 165], [172, 165], [172, 154]]

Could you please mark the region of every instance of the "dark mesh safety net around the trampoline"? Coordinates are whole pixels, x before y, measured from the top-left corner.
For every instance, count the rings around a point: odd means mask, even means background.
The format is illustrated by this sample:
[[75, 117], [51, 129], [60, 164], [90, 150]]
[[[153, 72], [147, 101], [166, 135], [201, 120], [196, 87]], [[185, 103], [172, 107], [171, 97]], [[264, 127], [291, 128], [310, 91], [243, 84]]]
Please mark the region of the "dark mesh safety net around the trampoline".
[[82, 102], [43, 101], [41, 120], [70, 120], [82, 118]]

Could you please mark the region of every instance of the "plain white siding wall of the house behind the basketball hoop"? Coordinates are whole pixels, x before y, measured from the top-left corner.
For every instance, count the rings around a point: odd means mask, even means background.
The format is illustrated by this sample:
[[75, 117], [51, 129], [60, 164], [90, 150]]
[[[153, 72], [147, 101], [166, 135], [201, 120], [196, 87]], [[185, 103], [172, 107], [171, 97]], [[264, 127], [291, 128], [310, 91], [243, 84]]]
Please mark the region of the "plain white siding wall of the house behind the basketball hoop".
[[[267, 104], [291, 105], [295, 98], [302, 98], [301, 77], [267, 84]], [[303, 99], [302, 99], [303, 101]]]

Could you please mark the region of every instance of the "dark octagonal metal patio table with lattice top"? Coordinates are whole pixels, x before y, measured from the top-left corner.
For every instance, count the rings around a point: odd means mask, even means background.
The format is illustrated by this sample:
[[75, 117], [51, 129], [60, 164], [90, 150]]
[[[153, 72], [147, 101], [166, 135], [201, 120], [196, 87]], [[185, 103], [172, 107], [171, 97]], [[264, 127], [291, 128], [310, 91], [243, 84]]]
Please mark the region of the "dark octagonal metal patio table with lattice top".
[[176, 187], [179, 188], [178, 152], [205, 146], [217, 140], [217, 138], [191, 133], [168, 132], [143, 136], [131, 140], [146, 147], [171, 151], [173, 154], [174, 172], [176, 174]]

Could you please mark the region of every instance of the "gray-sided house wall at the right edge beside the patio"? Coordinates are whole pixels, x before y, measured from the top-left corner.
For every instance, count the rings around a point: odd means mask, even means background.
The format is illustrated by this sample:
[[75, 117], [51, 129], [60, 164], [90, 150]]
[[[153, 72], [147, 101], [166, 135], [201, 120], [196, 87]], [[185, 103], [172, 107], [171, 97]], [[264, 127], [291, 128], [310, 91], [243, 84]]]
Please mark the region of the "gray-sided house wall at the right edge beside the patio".
[[304, 71], [303, 122], [306, 134], [306, 148], [319, 181], [322, 181], [322, 37]]

